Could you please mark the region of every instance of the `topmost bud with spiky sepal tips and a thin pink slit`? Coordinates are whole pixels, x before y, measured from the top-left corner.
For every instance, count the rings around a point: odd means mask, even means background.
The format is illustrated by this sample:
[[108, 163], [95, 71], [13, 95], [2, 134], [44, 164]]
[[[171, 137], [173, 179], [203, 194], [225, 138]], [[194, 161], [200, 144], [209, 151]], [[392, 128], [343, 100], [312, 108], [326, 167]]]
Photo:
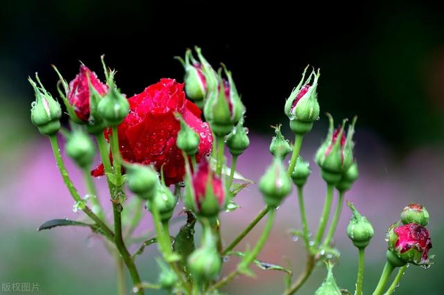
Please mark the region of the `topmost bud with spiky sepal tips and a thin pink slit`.
[[207, 60], [200, 53], [200, 48], [196, 48], [200, 61], [195, 60], [191, 49], [185, 52], [185, 60], [182, 57], [176, 57], [185, 69], [185, 93], [187, 97], [196, 103], [199, 107], [203, 107], [203, 99], [207, 93], [207, 81], [203, 74], [203, 67], [210, 66]]

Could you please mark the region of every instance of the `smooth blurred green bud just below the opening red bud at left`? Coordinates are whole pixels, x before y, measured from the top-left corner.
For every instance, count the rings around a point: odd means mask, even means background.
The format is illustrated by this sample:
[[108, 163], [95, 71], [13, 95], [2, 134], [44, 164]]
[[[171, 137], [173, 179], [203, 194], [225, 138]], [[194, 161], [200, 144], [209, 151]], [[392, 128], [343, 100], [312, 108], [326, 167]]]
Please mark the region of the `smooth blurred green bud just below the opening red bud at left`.
[[69, 134], [65, 150], [67, 156], [73, 159], [76, 165], [84, 170], [91, 167], [94, 155], [96, 154], [96, 148], [91, 138], [80, 129]]

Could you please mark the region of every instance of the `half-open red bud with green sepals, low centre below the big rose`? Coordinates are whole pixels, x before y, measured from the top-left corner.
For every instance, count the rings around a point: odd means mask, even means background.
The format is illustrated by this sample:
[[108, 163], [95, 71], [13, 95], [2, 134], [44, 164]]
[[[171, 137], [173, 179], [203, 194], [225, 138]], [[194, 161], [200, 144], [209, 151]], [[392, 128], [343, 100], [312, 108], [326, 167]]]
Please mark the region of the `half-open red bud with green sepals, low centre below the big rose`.
[[222, 179], [216, 176], [207, 159], [200, 162], [191, 177], [189, 175], [187, 167], [185, 206], [198, 216], [216, 217], [228, 201]]

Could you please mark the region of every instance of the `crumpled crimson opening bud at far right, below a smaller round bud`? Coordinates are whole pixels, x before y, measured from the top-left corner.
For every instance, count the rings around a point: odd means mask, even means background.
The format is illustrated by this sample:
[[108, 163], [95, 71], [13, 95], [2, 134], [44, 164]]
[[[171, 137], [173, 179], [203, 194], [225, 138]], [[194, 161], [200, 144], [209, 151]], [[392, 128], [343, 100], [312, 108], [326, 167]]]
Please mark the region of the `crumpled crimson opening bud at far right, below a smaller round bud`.
[[388, 250], [405, 263], [429, 265], [429, 249], [432, 240], [424, 226], [411, 223], [398, 226], [393, 224], [387, 232]]

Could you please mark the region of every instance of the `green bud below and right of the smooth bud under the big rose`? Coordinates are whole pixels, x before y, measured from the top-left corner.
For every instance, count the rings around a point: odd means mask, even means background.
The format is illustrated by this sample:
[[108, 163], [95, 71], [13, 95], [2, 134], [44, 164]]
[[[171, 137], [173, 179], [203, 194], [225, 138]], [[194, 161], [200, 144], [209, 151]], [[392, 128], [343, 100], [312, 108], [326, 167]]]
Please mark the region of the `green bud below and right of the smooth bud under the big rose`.
[[146, 202], [146, 207], [153, 213], [153, 203], [155, 203], [155, 208], [157, 208], [157, 211], [160, 213], [160, 220], [167, 222], [173, 216], [178, 198], [173, 195], [173, 192], [162, 182], [163, 181], [160, 181], [157, 185], [153, 199], [148, 199]]

